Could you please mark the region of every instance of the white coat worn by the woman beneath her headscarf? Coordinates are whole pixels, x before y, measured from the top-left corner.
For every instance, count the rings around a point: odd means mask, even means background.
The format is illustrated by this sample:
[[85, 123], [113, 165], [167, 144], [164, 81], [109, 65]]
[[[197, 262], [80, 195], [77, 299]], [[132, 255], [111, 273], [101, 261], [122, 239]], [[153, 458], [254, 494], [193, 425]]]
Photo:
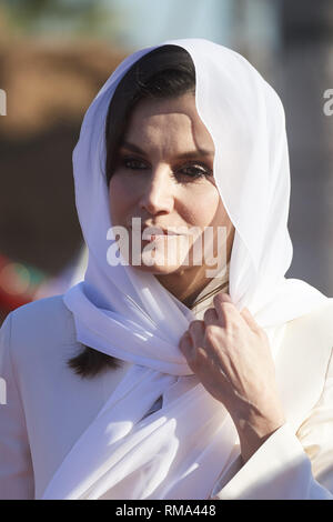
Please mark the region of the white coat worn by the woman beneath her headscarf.
[[[333, 499], [333, 302], [290, 321], [276, 379], [286, 423], [242, 465], [239, 448], [210, 499]], [[82, 347], [62, 297], [11, 312], [0, 340], [0, 498], [39, 499], [132, 363], [94, 378], [67, 365]], [[3, 402], [3, 401], [2, 401]]]

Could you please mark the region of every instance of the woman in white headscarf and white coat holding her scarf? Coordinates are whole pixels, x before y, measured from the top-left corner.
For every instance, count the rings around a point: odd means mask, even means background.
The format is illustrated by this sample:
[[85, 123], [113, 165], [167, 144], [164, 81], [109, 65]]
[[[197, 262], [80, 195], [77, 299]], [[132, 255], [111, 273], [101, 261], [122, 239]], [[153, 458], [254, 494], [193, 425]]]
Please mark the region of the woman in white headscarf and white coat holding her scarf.
[[284, 278], [273, 89], [208, 40], [143, 49], [73, 167], [88, 269], [1, 329], [1, 495], [332, 499], [333, 304]]

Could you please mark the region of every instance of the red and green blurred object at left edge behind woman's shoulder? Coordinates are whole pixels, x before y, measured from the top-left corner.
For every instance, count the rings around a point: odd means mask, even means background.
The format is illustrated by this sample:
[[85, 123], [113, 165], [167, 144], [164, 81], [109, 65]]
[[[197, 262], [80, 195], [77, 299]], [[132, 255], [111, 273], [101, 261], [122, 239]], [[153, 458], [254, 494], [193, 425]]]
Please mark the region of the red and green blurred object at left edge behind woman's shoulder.
[[33, 301], [38, 288], [47, 279], [47, 274], [41, 270], [0, 254], [1, 311], [6, 314]]

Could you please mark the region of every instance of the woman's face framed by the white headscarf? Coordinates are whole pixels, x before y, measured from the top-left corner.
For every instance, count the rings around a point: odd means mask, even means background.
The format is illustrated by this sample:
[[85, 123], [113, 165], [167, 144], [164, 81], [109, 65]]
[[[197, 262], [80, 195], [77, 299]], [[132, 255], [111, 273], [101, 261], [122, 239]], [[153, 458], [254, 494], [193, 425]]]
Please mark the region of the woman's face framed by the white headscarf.
[[[135, 106], [109, 188], [112, 225], [129, 231], [130, 264], [161, 277], [162, 282], [168, 274], [203, 277], [205, 267], [214, 268], [206, 264], [206, 259], [210, 252], [218, 257], [218, 249], [224, 249], [229, 259], [233, 227], [215, 185], [213, 160], [214, 143], [199, 118], [192, 93], [175, 99], [141, 100]], [[175, 234], [157, 235], [153, 242], [141, 241], [140, 225], [132, 235], [132, 218], [141, 219], [142, 229], [159, 227]], [[201, 259], [198, 264], [196, 257], [194, 265], [194, 243], [198, 248], [206, 227], [212, 231], [211, 250], [208, 248], [203, 259], [201, 243], [202, 255], [199, 253]], [[226, 234], [222, 245], [218, 244], [218, 227]], [[133, 263], [132, 255], [133, 238], [138, 237], [141, 264], [138, 258]]]

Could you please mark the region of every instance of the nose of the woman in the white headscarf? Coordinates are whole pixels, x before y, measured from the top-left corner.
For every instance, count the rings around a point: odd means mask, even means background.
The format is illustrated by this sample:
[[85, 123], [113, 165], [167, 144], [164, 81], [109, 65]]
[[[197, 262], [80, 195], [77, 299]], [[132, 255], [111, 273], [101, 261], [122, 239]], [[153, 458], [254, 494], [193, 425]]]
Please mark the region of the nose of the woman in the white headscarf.
[[170, 167], [158, 165], [147, 178], [144, 190], [140, 199], [140, 208], [150, 214], [170, 212], [173, 208], [173, 183]]

